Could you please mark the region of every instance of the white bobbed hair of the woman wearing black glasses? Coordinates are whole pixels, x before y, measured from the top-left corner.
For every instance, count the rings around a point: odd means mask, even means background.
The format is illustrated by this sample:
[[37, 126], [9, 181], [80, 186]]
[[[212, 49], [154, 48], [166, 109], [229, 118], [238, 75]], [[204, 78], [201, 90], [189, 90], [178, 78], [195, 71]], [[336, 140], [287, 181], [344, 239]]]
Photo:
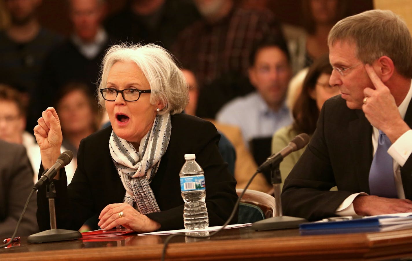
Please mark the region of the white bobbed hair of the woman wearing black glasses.
[[[150, 103], [160, 100], [165, 105], [159, 114], [181, 113], [185, 109], [189, 102], [186, 80], [166, 49], [154, 44], [113, 45], [103, 58], [98, 90], [106, 88], [109, 71], [117, 61], [133, 61], [142, 70], [152, 90]], [[97, 95], [104, 108], [103, 97], [100, 93]]]

